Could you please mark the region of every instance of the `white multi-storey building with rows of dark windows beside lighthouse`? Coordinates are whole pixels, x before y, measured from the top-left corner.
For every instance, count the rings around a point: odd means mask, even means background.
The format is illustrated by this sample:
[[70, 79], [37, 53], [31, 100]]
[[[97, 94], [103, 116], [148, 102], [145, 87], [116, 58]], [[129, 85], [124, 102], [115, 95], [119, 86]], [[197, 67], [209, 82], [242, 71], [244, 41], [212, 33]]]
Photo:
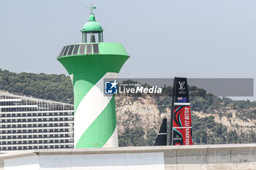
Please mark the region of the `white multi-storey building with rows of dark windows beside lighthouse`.
[[0, 93], [0, 150], [73, 148], [74, 107]]

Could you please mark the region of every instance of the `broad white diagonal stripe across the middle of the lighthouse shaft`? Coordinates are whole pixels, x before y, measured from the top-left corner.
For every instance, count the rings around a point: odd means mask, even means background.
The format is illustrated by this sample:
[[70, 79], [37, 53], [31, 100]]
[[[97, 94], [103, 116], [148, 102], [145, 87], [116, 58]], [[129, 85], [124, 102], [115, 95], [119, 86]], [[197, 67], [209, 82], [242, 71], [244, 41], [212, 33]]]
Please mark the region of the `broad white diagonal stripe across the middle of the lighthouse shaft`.
[[74, 142], [78, 143], [80, 137], [94, 120], [108, 106], [113, 95], [105, 96], [104, 79], [116, 79], [117, 73], [106, 73], [83, 97], [75, 112]]

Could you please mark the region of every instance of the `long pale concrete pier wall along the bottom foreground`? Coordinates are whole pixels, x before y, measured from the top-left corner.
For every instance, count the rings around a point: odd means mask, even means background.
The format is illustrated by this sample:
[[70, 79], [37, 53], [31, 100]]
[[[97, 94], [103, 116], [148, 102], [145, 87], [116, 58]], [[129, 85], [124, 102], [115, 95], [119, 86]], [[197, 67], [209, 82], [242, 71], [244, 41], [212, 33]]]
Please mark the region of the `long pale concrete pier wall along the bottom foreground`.
[[1, 169], [256, 169], [256, 144], [24, 150], [0, 154]]

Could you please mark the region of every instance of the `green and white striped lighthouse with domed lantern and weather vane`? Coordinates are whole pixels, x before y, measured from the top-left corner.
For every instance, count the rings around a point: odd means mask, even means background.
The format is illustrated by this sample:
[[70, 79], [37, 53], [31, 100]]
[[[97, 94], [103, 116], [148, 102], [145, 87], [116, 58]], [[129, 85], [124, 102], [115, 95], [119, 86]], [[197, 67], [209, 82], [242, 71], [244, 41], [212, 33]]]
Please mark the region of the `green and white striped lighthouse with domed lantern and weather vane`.
[[129, 55], [121, 44], [103, 42], [104, 30], [92, 9], [81, 30], [83, 42], [65, 45], [58, 61], [74, 88], [75, 148], [118, 147], [115, 96], [105, 95], [104, 80], [115, 80]]

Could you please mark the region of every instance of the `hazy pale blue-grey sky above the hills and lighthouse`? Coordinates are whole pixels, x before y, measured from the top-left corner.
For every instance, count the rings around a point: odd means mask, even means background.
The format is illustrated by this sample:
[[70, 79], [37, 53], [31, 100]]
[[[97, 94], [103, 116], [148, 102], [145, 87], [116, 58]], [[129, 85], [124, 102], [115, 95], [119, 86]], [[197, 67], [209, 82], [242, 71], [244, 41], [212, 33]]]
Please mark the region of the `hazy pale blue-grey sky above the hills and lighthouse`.
[[0, 69], [67, 74], [56, 56], [82, 41], [91, 3], [130, 55], [120, 78], [256, 78], [255, 0], [1, 1]]

